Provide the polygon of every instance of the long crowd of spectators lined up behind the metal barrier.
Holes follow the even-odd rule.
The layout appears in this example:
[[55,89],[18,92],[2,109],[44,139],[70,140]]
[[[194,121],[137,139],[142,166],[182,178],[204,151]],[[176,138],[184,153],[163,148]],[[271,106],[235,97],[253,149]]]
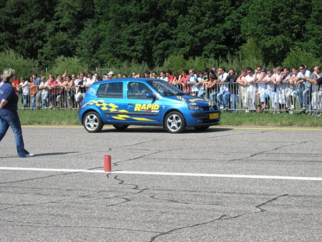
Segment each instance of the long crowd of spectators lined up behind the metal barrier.
[[[171,70],[155,71],[130,75],[113,71],[101,77],[98,73],[80,72],[67,74],[67,69],[55,77],[52,73],[46,78],[39,78],[33,73],[30,78],[16,79],[13,87],[22,95],[23,108],[36,109],[78,109],[85,96],[86,89],[101,80],[116,78],[158,78],[177,86],[183,92],[216,101],[222,111],[245,110],[245,112],[267,112],[273,114],[286,112],[292,114],[296,99],[302,113],[321,114],[322,87],[321,67],[314,66],[311,70],[306,65],[272,69],[257,66],[236,70],[222,67],[205,68],[203,71],[183,69],[181,73]],[[237,101],[239,108],[237,109]]]

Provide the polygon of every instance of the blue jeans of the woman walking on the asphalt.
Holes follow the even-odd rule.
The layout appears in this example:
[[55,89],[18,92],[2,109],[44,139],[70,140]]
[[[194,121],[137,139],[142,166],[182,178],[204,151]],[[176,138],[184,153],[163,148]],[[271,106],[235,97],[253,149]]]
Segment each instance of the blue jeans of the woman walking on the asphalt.
[[0,115],[0,141],[4,137],[9,126],[14,134],[18,155],[20,157],[24,157],[25,155],[29,154],[29,152],[24,148],[22,129],[18,114]]

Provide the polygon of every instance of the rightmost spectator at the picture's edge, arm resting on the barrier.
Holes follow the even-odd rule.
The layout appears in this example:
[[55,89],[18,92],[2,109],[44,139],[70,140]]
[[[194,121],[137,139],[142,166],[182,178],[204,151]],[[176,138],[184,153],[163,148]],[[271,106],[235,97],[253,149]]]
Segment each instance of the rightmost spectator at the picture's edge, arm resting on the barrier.
[[[322,86],[321,86],[321,77],[322,77],[322,72],[321,72],[321,67],[319,65],[316,65],[314,67],[314,71],[311,74],[310,77],[303,76],[302,80],[308,81],[311,84],[313,84],[313,109],[317,110],[321,115],[322,112]],[[320,80],[318,81],[318,79]],[[319,84],[320,83],[320,84]]]

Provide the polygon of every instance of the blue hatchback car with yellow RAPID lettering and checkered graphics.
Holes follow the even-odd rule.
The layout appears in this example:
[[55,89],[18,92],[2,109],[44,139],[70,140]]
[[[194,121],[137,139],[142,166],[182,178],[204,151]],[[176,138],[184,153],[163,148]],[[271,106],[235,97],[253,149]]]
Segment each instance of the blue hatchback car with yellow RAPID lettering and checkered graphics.
[[88,88],[78,113],[88,132],[104,124],[116,129],[129,125],[163,126],[170,133],[186,127],[207,129],[220,121],[218,105],[189,96],[160,79],[127,78],[96,82]]

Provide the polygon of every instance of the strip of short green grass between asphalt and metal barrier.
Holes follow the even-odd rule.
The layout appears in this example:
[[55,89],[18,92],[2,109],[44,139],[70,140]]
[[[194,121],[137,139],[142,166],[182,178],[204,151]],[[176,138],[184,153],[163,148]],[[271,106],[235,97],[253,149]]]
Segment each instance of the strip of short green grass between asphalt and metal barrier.
[[[77,111],[65,110],[18,110],[21,124],[70,124],[80,125]],[[219,125],[233,126],[290,126],[322,127],[322,117],[302,114],[257,114],[257,113],[224,113]]]

